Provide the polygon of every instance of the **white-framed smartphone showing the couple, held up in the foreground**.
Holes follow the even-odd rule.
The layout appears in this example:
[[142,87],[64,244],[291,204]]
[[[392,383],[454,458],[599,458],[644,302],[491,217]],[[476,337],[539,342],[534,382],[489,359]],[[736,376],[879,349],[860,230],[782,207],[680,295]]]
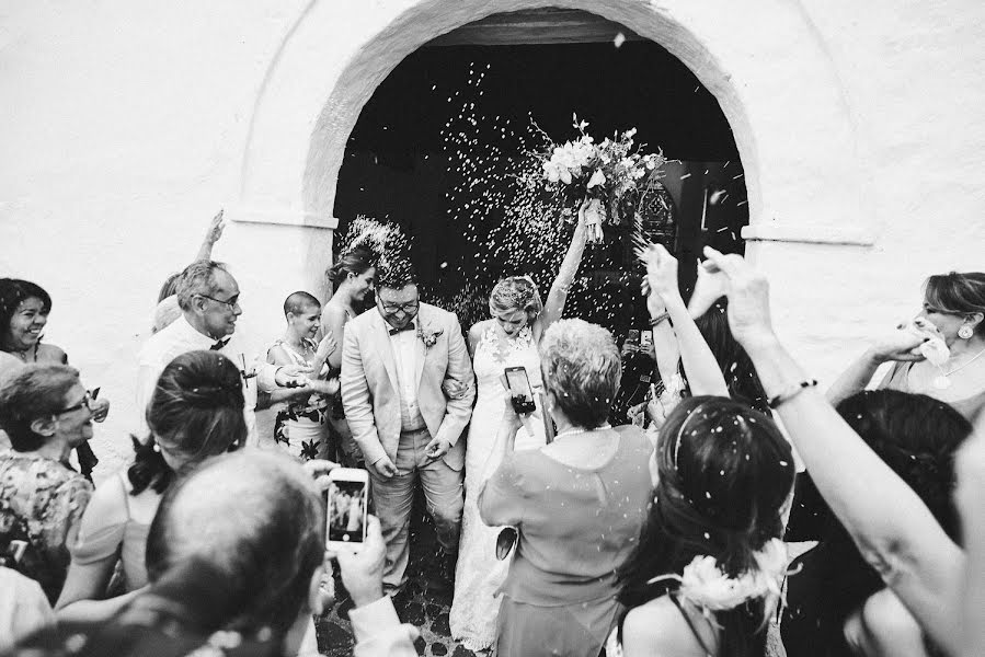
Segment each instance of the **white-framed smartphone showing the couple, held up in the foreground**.
[[369,473],[358,468],[336,468],[329,472],[329,480],[327,548],[357,552],[366,540]]

